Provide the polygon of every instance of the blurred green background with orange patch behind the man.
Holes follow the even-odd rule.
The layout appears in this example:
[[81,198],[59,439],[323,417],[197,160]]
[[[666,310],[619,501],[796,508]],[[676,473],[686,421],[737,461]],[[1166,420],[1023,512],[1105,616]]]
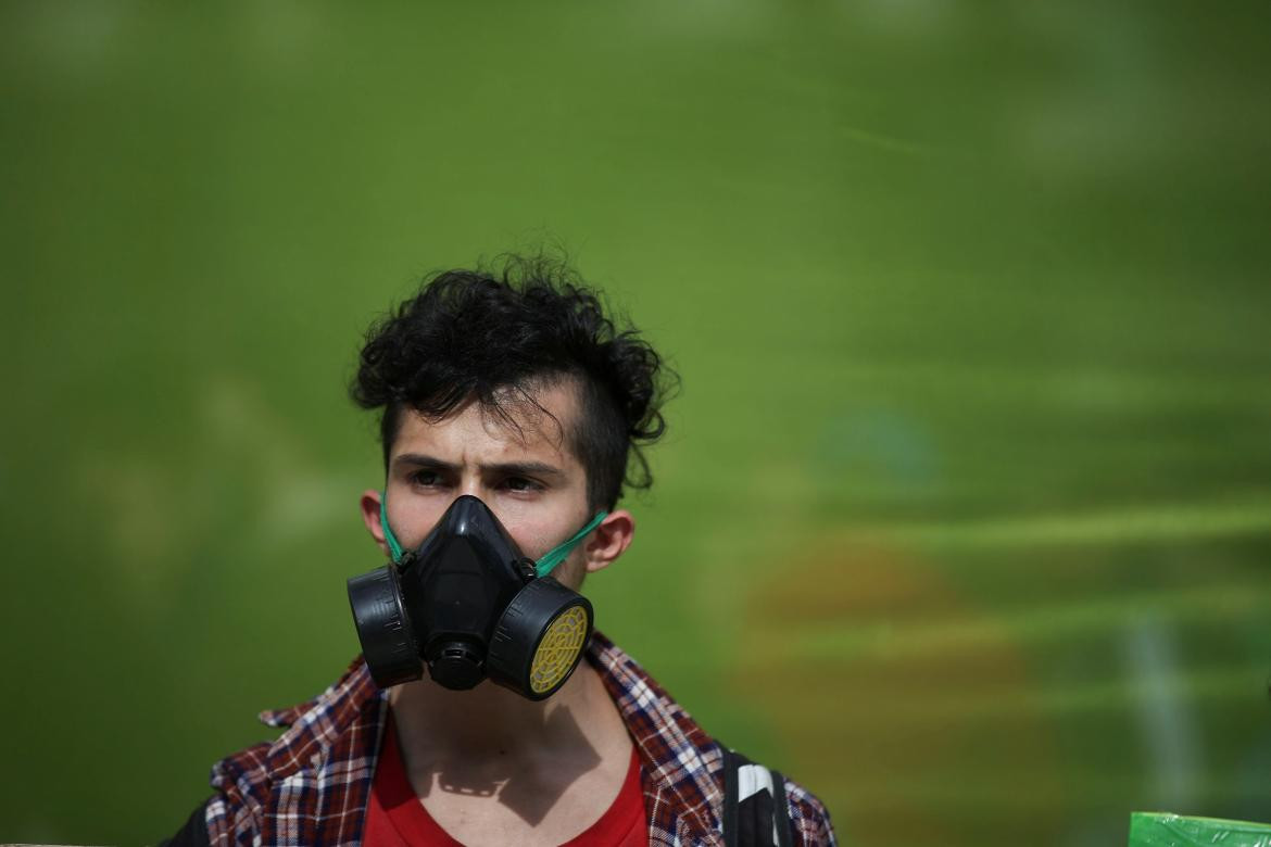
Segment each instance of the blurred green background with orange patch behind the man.
[[0,839],[357,651],[361,333],[559,243],[684,389],[601,629],[852,844],[1271,819],[1271,6],[0,6]]

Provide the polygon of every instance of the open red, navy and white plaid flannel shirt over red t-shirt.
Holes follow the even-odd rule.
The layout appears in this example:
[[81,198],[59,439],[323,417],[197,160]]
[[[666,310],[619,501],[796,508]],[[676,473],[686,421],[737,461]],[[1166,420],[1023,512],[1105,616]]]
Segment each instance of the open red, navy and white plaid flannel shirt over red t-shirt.
[[[587,659],[639,749],[649,844],[722,847],[723,753],[666,692],[600,632]],[[229,844],[358,844],[388,697],[358,657],[309,702],[261,712],[286,726],[212,766],[208,837]],[[835,844],[825,806],[785,781],[796,844]]]

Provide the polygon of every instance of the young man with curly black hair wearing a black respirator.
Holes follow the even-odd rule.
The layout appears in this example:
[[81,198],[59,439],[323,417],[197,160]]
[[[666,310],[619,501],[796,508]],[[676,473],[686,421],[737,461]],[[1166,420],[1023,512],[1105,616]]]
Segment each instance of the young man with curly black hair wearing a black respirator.
[[360,507],[393,561],[350,580],[365,658],[264,712],[287,729],[212,768],[175,842],[834,844],[576,593],[632,542],[666,380],[545,260],[442,273],[374,326],[352,396],[383,410],[385,484]]

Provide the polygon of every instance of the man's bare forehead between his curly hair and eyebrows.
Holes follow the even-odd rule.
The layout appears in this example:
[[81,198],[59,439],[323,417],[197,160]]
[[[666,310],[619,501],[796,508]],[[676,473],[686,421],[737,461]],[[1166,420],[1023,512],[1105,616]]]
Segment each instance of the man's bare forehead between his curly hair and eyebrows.
[[577,464],[568,447],[577,414],[577,391],[564,381],[534,389],[529,396],[505,391],[497,409],[469,399],[440,419],[405,409],[391,455],[428,452],[447,461],[535,458]]

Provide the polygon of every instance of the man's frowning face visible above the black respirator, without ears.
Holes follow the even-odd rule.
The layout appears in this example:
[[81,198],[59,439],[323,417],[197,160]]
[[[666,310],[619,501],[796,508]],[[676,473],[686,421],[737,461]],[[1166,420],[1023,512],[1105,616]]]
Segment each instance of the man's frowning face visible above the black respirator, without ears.
[[[404,411],[389,453],[388,521],[403,549],[423,541],[455,498],[479,498],[526,556],[539,559],[587,522],[586,470],[566,446],[577,414],[571,385],[508,404],[516,427],[469,401],[441,420]],[[576,549],[554,573],[582,582]]]

